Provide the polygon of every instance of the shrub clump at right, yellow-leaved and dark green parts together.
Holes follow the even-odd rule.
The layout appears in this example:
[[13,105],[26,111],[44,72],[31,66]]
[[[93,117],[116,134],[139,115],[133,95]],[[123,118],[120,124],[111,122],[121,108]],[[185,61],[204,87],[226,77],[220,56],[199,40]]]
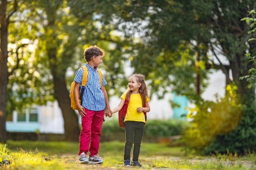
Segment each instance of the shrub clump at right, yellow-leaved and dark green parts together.
[[[184,135],[186,149],[202,155],[252,153],[256,150],[256,102],[251,94],[241,102],[236,86],[225,97],[202,101],[191,110],[191,127]],[[243,103],[243,104],[240,104]]]

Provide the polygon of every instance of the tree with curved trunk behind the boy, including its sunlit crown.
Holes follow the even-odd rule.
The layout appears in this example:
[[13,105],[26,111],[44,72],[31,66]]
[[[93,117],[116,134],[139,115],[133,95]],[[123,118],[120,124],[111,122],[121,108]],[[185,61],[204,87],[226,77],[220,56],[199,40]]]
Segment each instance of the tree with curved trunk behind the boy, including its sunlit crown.
[[[95,10],[85,11],[80,16],[76,16],[77,9],[81,7],[79,5],[80,1],[55,0],[49,1],[49,3],[45,3],[45,1],[36,1],[34,3],[36,7],[45,11],[43,15],[40,15],[43,23],[47,23],[43,24],[44,31],[39,38],[42,42],[40,46],[45,46],[45,56],[48,59],[47,64],[49,64],[46,67],[49,68],[53,76],[54,97],[58,101],[63,114],[65,139],[78,140],[78,119],[74,110],[70,107],[70,98],[68,97],[67,85],[70,86],[71,82],[66,82],[67,69],[72,66],[72,62],[76,62],[76,59],[79,61],[82,59],[83,62],[76,62],[73,65],[75,66],[74,70],[78,69],[82,63],[85,63],[83,58],[85,46],[90,46],[89,44],[107,46],[109,42],[119,42],[119,39],[111,36],[111,28],[100,30],[97,26],[97,20],[93,19],[99,10],[97,6],[94,7]],[[112,51],[114,50],[112,49]],[[43,51],[40,51],[40,53],[43,53]],[[115,53],[118,54],[118,50]],[[113,54],[117,57],[115,53]],[[116,68],[119,69],[119,66]]]

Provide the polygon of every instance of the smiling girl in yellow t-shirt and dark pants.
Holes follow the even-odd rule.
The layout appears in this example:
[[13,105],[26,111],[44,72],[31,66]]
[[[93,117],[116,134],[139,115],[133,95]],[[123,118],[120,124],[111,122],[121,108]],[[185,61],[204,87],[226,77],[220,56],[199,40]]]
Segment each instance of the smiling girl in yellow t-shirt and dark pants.
[[[144,112],[150,111],[148,88],[144,75],[133,74],[128,83],[128,88],[121,96],[121,102],[113,108],[112,113],[118,112],[128,101],[127,113],[124,118],[126,142],[124,146],[124,166],[139,166],[138,162],[141,139],[144,133],[146,118]],[[144,107],[143,107],[144,106]],[[132,163],[130,164],[130,152],[133,147]]]

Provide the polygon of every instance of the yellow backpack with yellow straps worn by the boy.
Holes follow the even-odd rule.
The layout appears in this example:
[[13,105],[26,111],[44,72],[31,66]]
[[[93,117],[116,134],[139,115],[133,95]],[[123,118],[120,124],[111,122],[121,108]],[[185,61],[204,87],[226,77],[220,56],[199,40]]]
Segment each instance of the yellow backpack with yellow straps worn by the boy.
[[[82,92],[81,92],[81,96],[80,96],[80,88],[78,91],[78,95],[79,95],[79,103],[81,104],[81,99],[83,99],[83,92],[84,92],[84,88],[85,88],[85,84],[87,83],[87,75],[88,75],[88,71],[87,71],[87,67],[86,66],[82,66],[83,68],[83,78],[82,78]],[[98,73],[99,73],[99,77],[100,77],[100,87],[102,86],[102,73],[99,69],[97,69]],[[78,108],[76,107],[76,103],[75,103],[75,98],[74,98],[74,86],[75,86],[75,82],[73,81],[71,84],[71,90],[70,90],[70,100],[71,100],[71,108],[73,108],[74,110],[78,110]]]

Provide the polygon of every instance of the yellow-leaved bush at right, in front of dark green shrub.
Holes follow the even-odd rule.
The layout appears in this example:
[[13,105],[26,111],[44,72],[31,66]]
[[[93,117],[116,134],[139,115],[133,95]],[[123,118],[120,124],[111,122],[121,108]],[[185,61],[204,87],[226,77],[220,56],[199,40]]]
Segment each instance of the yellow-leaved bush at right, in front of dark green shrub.
[[[216,102],[198,102],[188,115],[192,119],[192,125],[184,136],[187,149],[202,154],[218,135],[225,136],[235,130],[240,123],[241,115],[242,106],[237,99],[236,86],[227,86],[226,96],[217,98]],[[222,146],[223,141],[216,144],[216,147]],[[216,151],[219,148],[216,148]]]

